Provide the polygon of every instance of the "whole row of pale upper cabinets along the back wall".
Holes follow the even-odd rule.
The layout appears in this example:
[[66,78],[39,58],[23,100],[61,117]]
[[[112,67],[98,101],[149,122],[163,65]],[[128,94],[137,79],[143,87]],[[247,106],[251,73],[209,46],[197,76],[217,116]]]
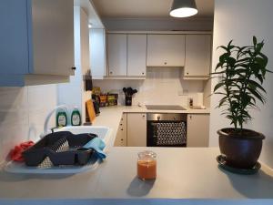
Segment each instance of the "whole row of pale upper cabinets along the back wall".
[[[96,35],[91,36],[96,40]],[[101,43],[98,43],[101,42]],[[112,32],[106,35],[106,62],[103,38],[97,39],[92,62],[93,77],[100,78],[145,78],[147,67],[181,67],[184,79],[207,79],[211,66],[211,35],[207,32],[145,33]],[[92,48],[91,48],[92,51]],[[96,54],[95,54],[96,53]],[[101,55],[100,55],[101,54]]]

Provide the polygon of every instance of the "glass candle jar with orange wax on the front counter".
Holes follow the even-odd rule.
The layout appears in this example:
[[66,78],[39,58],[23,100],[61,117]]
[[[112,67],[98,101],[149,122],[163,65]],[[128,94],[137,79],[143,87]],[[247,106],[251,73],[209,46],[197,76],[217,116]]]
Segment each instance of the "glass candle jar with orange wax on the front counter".
[[142,180],[157,178],[157,154],[153,151],[138,153],[137,177]]

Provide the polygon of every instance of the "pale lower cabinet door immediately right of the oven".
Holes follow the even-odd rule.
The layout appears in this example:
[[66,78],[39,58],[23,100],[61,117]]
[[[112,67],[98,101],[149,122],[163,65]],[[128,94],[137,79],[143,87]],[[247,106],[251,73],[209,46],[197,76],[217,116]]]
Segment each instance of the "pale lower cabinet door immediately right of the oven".
[[208,147],[209,139],[209,115],[188,114],[187,115],[187,147]]

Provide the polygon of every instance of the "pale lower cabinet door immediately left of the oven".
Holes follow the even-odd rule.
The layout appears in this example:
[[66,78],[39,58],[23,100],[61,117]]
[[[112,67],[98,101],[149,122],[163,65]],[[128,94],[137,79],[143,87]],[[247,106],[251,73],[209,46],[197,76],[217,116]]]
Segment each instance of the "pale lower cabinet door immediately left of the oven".
[[127,113],[127,146],[147,147],[146,113]]

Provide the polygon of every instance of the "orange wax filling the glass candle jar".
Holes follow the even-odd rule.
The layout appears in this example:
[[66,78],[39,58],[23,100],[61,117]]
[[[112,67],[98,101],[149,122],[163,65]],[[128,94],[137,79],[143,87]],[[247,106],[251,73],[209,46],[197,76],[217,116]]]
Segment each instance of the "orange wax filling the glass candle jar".
[[157,161],[156,160],[137,160],[137,176],[140,179],[157,178]]

